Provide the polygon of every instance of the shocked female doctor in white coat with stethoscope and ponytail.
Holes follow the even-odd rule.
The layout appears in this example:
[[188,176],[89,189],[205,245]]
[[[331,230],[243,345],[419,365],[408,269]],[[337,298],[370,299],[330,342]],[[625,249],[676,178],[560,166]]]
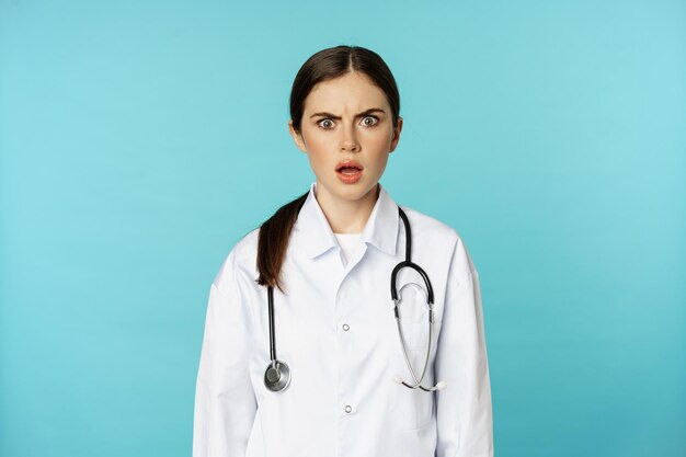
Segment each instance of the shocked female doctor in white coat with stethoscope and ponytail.
[[369,49],[298,71],[288,127],[317,180],[211,283],[194,457],[493,455],[476,266],[455,229],[379,183],[399,108]]

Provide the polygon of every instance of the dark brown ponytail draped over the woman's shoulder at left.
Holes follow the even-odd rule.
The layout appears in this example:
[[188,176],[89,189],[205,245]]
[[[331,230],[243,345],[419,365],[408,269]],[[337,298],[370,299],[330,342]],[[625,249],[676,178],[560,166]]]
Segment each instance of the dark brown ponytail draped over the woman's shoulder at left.
[[309,191],[285,204],[260,226],[258,239],[258,271],[260,276],[256,279],[259,285],[278,287],[284,293],[281,270],[288,249],[290,231],[308,194]]

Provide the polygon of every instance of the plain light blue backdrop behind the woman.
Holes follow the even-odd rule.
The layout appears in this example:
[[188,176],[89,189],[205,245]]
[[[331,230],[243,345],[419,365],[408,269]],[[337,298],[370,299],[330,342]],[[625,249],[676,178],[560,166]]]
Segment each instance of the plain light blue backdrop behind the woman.
[[209,284],[313,180],[288,94],[338,44],[479,269],[496,455],[686,455],[683,1],[0,1],[0,455],[191,454]]

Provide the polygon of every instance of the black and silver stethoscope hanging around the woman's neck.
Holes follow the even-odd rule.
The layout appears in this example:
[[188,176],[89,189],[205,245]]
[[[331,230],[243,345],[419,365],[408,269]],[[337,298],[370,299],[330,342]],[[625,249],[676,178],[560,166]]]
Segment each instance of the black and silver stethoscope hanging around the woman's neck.
[[[414,384],[405,382],[400,375],[396,375],[393,380],[398,384],[402,384],[410,389],[420,388],[426,392],[431,392],[434,390],[441,390],[446,387],[444,381],[436,384],[434,387],[426,388],[422,386],[422,380],[424,379],[424,375],[426,375],[426,367],[428,366],[428,358],[431,356],[431,342],[433,339],[434,332],[434,289],[431,286],[431,281],[428,276],[419,266],[416,263],[412,262],[412,233],[410,231],[410,222],[408,221],[408,216],[405,216],[404,212],[398,207],[398,212],[400,213],[400,218],[405,228],[405,260],[400,262],[393,269],[390,275],[390,295],[393,299],[393,312],[396,315],[396,323],[398,324],[398,334],[400,335],[400,345],[402,346],[402,353],[405,358],[405,363],[408,364],[408,368],[410,369],[410,374],[412,375],[412,379],[414,379]],[[422,376],[418,379],[412,363],[410,362],[410,357],[408,356],[408,351],[405,349],[405,339],[404,333],[402,332],[402,324],[400,322],[400,313],[398,311],[398,305],[401,302],[398,299],[398,289],[396,288],[396,277],[398,272],[404,267],[410,267],[416,271],[422,278],[424,279],[424,284],[426,285],[427,296],[426,296],[426,305],[428,307],[428,347],[426,350],[426,358],[424,359],[424,368],[422,369]],[[266,367],[264,372],[264,385],[267,389],[273,392],[278,392],[286,389],[290,385],[290,368],[285,362],[282,362],[276,358],[276,344],[274,342],[274,288],[272,286],[267,287],[267,299],[268,299],[268,313],[270,313],[270,365]]]

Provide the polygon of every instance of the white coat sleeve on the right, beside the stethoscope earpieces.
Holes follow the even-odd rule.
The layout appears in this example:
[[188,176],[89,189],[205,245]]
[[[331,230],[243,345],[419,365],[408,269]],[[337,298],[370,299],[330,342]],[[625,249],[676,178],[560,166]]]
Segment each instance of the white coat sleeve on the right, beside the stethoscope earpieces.
[[436,457],[492,457],[493,413],[481,288],[461,239],[450,260],[435,363]]

